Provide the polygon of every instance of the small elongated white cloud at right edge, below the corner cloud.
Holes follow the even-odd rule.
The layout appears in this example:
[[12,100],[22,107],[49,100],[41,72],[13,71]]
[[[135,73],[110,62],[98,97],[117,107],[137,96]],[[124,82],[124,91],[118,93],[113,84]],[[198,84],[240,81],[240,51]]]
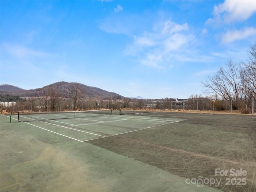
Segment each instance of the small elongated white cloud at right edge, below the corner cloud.
[[222,36],[221,41],[223,43],[230,43],[235,40],[245,39],[248,36],[252,36],[252,35],[256,35],[256,28],[246,27],[246,28],[243,28],[242,30],[231,30],[226,32],[226,34]]

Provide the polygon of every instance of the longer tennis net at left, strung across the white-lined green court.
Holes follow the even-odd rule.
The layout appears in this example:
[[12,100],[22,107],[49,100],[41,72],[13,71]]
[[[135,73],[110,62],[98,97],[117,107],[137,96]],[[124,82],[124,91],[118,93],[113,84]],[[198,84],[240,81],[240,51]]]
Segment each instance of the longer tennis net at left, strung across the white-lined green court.
[[68,118],[90,118],[102,115],[112,115],[112,109],[90,110],[90,111],[64,111],[64,112],[27,112],[19,111],[19,122],[44,121]]

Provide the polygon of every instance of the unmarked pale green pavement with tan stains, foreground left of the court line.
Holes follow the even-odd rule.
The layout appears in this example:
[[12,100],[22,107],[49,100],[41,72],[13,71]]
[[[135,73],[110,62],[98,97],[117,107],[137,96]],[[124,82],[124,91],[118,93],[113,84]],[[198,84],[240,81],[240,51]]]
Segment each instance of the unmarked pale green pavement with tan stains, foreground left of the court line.
[[0,115],[1,192],[183,192],[185,183],[155,166]]

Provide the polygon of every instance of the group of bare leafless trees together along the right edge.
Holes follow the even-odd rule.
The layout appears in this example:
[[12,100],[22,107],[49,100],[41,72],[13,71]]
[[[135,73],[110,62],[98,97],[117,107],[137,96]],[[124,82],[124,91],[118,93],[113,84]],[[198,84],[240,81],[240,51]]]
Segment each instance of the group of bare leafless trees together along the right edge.
[[203,82],[206,93],[230,102],[234,110],[241,108],[243,100],[256,98],[256,42],[248,53],[247,63],[228,60]]

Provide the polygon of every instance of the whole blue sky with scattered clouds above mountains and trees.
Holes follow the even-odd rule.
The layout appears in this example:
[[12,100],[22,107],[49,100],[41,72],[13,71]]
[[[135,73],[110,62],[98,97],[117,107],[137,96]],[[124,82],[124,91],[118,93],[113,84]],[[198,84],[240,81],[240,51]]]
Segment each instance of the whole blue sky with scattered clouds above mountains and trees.
[[1,79],[188,98],[256,42],[256,1],[0,1]]

